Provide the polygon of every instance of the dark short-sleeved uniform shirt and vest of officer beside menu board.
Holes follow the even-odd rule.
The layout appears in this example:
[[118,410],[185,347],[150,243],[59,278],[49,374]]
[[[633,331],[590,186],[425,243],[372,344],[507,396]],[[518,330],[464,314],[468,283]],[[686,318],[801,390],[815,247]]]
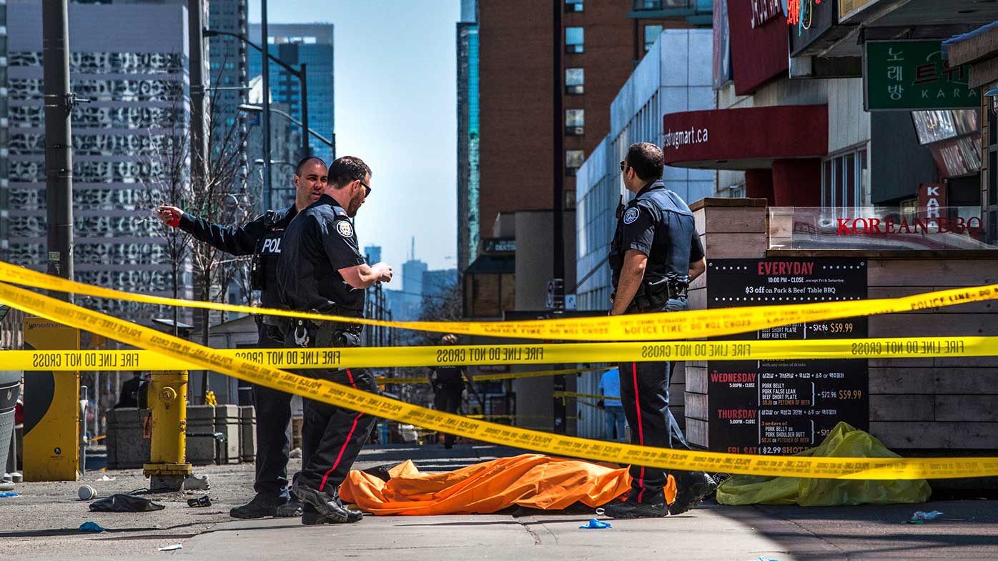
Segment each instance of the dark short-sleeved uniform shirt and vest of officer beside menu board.
[[624,255],[629,250],[648,256],[645,283],[666,277],[686,279],[690,264],[704,259],[704,246],[697,235],[693,213],[661,181],[638,192],[638,197],[627,205],[617,221],[610,254],[614,287],[620,281]]

